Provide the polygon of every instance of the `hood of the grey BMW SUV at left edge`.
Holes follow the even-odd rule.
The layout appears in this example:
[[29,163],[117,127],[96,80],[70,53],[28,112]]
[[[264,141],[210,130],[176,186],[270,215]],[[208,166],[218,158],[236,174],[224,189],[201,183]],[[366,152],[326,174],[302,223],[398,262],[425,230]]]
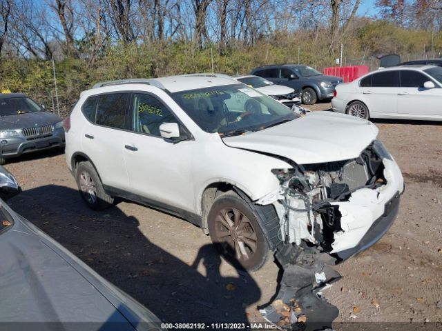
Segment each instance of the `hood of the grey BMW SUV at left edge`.
[[25,112],[24,114],[0,117],[0,130],[46,126],[59,121],[61,119],[50,112]]

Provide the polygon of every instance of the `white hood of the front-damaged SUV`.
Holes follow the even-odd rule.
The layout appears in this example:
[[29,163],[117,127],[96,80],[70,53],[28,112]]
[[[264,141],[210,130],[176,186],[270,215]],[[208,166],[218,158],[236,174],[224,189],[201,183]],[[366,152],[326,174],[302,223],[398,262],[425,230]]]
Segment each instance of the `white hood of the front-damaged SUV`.
[[222,140],[227,146],[280,155],[298,164],[354,159],[378,134],[365,119],[310,112],[279,126]]

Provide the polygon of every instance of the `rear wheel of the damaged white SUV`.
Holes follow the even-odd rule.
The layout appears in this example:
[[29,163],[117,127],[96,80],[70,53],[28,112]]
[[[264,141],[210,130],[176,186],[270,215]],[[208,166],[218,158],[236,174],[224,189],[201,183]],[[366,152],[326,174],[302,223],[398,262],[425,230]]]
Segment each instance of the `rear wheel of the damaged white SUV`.
[[104,192],[103,184],[94,166],[84,161],[79,163],[75,171],[75,181],[81,198],[93,210],[104,210],[113,205],[113,197]]

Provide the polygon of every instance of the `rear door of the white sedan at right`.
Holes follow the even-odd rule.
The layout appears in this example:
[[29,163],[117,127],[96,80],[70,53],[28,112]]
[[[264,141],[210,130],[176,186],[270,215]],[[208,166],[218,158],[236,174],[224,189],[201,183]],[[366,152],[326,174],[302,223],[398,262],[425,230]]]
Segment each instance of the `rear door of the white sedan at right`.
[[371,117],[396,117],[398,70],[381,70],[367,76],[361,80],[360,88]]

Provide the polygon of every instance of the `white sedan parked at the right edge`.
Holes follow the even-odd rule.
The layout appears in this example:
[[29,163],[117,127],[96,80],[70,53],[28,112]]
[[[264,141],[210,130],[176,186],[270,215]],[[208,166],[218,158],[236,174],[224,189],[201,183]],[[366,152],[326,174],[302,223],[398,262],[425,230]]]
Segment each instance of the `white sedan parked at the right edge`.
[[336,86],[335,112],[363,119],[442,120],[442,68],[397,66]]

